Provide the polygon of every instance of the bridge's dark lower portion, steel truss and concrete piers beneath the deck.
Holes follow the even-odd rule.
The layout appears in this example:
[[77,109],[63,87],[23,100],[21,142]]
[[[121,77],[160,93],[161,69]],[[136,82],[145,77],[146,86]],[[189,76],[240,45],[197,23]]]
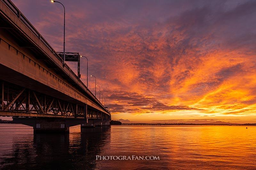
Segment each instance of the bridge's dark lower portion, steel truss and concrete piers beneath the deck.
[[32,126],[35,132],[68,132],[70,126],[78,124],[81,128],[109,125],[108,115],[91,106],[3,80],[0,81],[0,116],[12,116],[14,123]]

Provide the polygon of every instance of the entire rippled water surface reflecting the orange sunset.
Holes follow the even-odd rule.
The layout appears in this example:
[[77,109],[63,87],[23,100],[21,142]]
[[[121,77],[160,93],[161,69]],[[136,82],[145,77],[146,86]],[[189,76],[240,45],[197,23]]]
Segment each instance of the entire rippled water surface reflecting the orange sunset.
[[[112,126],[33,134],[0,124],[0,169],[256,169],[256,126]],[[160,160],[96,160],[159,156]]]

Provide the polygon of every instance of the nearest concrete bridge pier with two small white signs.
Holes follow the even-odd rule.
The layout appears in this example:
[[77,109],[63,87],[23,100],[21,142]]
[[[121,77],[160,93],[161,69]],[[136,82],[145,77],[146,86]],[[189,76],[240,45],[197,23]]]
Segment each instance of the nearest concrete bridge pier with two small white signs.
[[69,133],[69,127],[84,123],[81,119],[13,117],[16,124],[32,126],[34,133]]

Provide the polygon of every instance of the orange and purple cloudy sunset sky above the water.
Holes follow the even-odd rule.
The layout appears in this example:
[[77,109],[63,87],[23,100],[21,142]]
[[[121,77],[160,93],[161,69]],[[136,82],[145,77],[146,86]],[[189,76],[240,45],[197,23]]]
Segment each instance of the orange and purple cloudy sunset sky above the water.
[[[88,57],[113,120],[256,122],[256,1],[60,1],[66,51]],[[62,51],[60,4],[12,2]]]

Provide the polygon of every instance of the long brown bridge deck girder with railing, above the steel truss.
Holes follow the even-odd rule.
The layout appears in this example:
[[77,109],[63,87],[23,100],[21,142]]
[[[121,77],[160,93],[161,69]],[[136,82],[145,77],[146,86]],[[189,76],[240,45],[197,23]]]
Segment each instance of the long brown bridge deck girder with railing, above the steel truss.
[[[6,105],[10,102],[8,97],[5,97],[8,89],[5,89],[4,82],[7,81],[24,87],[26,91],[32,90],[45,96],[55,97],[56,100],[62,100],[64,103],[78,104],[81,108],[86,105],[89,109],[110,117],[110,112],[98,99],[95,99],[92,92],[82,81],[79,81],[78,76],[68,65],[63,65],[61,57],[10,0],[0,0],[0,23],[0,80],[3,82],[0,93],[2,97],[0,115],[33,116],[33,113],[27,112],[28,110],[25,112],[19,110],[19,113],[10,110],[11,105],[6,110]],[[15,107],[19,105],[17,101],[13,103]],[[25,101],[20,103],[26,105]],[[33,103],[27,102],[27,106],[30,105]],[[40,108],[40,104],[35,106]],[[60,107],[60,113],[61,110],[64,112],[65,109]],[[46,112],[43,110],[41,113],[35,113],[34,116],[37,114],[42,116]],[[62,113],[55,116],[68,115]],[[73,116],[79,117],[75,113]]]

